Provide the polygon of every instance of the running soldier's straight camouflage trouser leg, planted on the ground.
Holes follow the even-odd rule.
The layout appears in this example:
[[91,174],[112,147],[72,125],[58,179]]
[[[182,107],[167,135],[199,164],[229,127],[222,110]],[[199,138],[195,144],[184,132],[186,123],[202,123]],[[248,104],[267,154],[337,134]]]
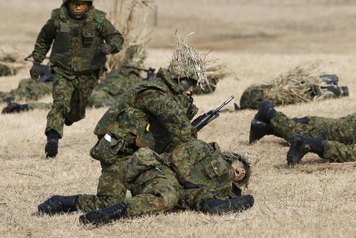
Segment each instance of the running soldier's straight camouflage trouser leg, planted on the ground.
[[55,130],[60,138],[63,136],[63,126],[65,117],[70,111],[70,101],[74,86],[72,81],[69,81],[60,74],[55,74],[53,77],[53,105],[51,111],[47,115],[46,134],[50,130]]

